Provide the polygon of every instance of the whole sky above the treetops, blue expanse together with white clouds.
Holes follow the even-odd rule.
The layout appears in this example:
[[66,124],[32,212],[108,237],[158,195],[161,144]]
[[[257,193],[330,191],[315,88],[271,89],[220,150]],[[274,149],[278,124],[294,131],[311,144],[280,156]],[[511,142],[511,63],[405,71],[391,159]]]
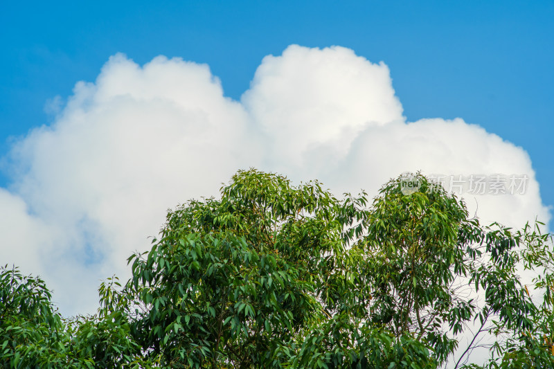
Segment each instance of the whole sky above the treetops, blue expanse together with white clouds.
[[[125,276],[125,258],[143,249],[136,240],[155,233],[166,208],[193,196],[215,195],[213,190],[244,165],[279,170],[294,179],[321,177],[339,189],[353,183],[371,190],[402,168],[452,174],[534,170],[532,193],[521,197],[523,202],[483,198],[480,209],[504,217],[508,224],[519,224],[518,216],[544,219],[545,209],[554,205],[553,19],[554,1],[1,1],[0,264],[13,262],[26,272],[42,273],[57,291],[62,312],[89,312],[94,307],[91,298],[82,296],[93,294],[98,279],[114,271]],[[303,47],[287,48],[292,44]],[[334,45],[343,48],[325,49]],[[127,57],[108,62],[117,53]],[[203,67],[152,61],[158,55],[207,64],[221,81],[224,96],[232,100],[215,96],[217,81]],[[277,58],[264,59],[267,55]],[[141,69],[147,63],[148,72],[147,67]],[[308,82],[298,86],[312,89],[296,88],[303,78]],[[172,80],[195,89],[186,95],[168,87]],[[78,81],[96,84],[80,84],[74,90]],[[175,97],[181,96],[179,91],[188,98]],[[313,102],[303,100],[310,93],[299,91],[327,95]],[[142,95],[136,98],[135,92]],[[208,97],[202,97],[204,92]],[[116,105],[113,96],[130,100],[120,99],[123,105]],[[132,105],[134,98],[138,105]],[[197,106],[208,108],[187,105],[175,114],[168,112],[175,104],[193,104],[195,98]],[[160,100],[171,104],[161,109],[156,105]],[[337,109],[325,110],[338,100]],[[68,101],[73,105],[66,105]],[[303,111],[303,104],[313,105]],[[152,130],[157,116],[160,121],[173,122],[176,116],[181,117],[176,122],[188,121],[183,111],[195,109],[206,116],[220,112],[219,120],[205,119],[216,128],[217,122],[233,116],[225,127],[238,122],[244,130],[221,137],[218,132],[226,132],[225,127],[198,136],[195,129],[200,128],[181,132],[177,123]],[[301,114],[289,114],[295,109]],[[325,120],[337,111],[335,120]],[[148,120],[150,116],[154,118]],[[448,123],[458,117],[463,121]],[[327,136],[307,143],[289,140],[295,125],[305,120],[310,121],[302,126],[303,136],[321,129],[319,118],[326,122]],[[334,130],[342,120],[343,130]],[[361,123],[349,125],[350,120]],[[377,128],[363,131],[366,120],[377,122]],[[389,120],[416,123],[386,125]],[[114,123],[102,126],[105,122]],[[287,126],[289,122],[295,125]],[[50,128],[37,130],[43,125]],[[379,128],[385,126],[398,131]],[[80,127],[86,127],[85,133]],[[113,127],[118,130],[110,131]],[[347,137],[349,129],[355,141]],[[362,131],[366,133],[359,134]],[[156,136],[160,132],[168,135]],[[193,141],[173,143],[179,132]],[[243,132],[237,142],[251,140],[227,147],[225,140],[233,139],[233,132]],[[391,150],[387,138],[377,139],[381,134],[406,138],[398,142],[408,152],[394,159],[393,151],[386,152]],[[129,136],[144,145],[133,146],[126,141]],[[94,141],[96,137],[101,139]],[[265,159],[249,161],[257,156],[247,154],[247,159],[228,161],[217,172],[220,167],[206,161],[202,150],[179,152],[194,145],[197,137],[204,139],[199,138],[204,147],[221,150],[217,155],[222,161],[239,157],[241,153],[229,153],[252,142],[258,146],[251,152]],[[152,147],[175,150],[166,156],[154,156],[160,150],[141,156],[150,138]],[[321,142],[328,143],[320,148],[323,154],[313,151],[302,163],[294,161],[296,154],[302,156]],[[352,149],[343,152],[342,143]],[[265,146],[271,149],[264,151]],[[368,151],[371,147],[376,147],[373,152]],[[427,150],[421,156],[427,158],[425,163],[401,162],[420,149]],[[380,156],[379,150],[385,154]],[[91,159],[104,154],[98,161]],[[336,157],[341,161],[334,163]],[[377,165],[382,161],[393,168],[392,174]],[[106,172],[112,163],[123,164]],[[359,174],[365,168],[374,176]],[[178,177],[179,171],[186,175]],[[168,189],[168,183],[174,187]],[[139,204],[143,200],[146,203]],[[155,217],[148,217],[151,213]],[[68,279],[67,273],[74,278]]]

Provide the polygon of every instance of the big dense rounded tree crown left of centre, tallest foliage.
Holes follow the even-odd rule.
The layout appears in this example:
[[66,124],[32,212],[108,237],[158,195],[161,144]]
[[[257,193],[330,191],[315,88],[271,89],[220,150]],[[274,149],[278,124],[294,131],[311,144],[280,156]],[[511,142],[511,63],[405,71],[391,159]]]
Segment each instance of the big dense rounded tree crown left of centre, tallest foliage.
[[173,368],[280,368],[323,319],[317,289],[343,252],[340,203],[317,182],[254,171],[222,194],[170,212],[148,257],[129,258],[129,293],[148,307],[134,332]]

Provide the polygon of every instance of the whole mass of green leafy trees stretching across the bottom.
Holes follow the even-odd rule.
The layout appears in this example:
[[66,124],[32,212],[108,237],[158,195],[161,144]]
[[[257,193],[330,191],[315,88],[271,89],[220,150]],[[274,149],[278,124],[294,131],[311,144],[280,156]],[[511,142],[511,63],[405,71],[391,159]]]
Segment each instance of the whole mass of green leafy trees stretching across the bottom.
[[[553,366],[551,236],[481,226],[463,201],[413,180],[406,192],[391,179],[369,204],[363,192],[339,199],[318,181],[240,171],[220,199],[169,211],[152,249],[128,259],[132,278],[102,283],[96,316],[58,316],[35,341],[46,350],[40,337],[60,332],[60,357],[102,368],[478,368],[463,363],[489,334],[479,368]],[[542,303],[519,265],[545,269]],[[0,362],[17,367],[23,346],[7,347]]]

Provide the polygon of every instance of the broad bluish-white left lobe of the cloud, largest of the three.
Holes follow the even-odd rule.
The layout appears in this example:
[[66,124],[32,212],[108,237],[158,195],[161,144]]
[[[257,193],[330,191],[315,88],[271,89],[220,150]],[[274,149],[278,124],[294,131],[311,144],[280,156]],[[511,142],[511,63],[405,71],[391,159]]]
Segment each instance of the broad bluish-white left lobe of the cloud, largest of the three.
[[[116,55],[96,83],[75,86],[51,127],[15,145],[12,196],[62,230],[19,252],[51,255],[40,271],[64,312],[96,308],[98,281],[127,276],[126,258],[148,246],[167,208],[215,195],[237,168],[258,165],[247,123],[207,66],[157,57],[141,68]],[[12,262],[7,251],[1,259]]]

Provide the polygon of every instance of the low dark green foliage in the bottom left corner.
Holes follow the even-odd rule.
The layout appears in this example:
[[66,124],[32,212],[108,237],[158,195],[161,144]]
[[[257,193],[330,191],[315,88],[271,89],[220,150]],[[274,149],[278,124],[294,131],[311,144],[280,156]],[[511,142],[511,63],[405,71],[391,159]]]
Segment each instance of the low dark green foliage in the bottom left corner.
[[44,281],[15,268],[0,268],[0,345],[2,368],[150,366],[121,312],[64,319]]

